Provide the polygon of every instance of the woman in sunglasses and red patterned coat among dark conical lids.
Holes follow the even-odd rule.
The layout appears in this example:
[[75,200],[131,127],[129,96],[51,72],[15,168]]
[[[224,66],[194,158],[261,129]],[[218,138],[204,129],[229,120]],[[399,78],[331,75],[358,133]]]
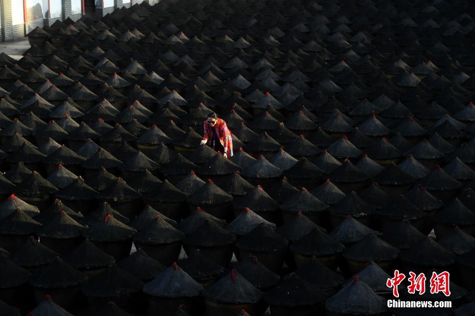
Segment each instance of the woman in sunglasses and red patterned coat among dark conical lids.
[[210,141],[210,147],[216,151],[221,151],[226,158],[233,155],[231,132],[226,126],[226,122],[218,118],[216,113],[208,114],[204,121],[204,136],[201,145]]

